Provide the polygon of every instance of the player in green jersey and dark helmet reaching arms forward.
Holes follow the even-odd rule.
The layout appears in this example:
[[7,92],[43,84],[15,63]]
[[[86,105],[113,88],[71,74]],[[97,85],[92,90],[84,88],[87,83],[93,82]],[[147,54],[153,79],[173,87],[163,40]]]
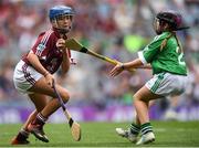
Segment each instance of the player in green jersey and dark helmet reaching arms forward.
[[[128,130],[116,128],[116,133],[126,137],[136,145],[148,144],[155,140],[153,127],[149,121],[149,101],[163,98],[168,95],[179,95],[185,91],[187,66],[184,51],[176,35],[176,31],[188,29],[184,27],[182,17],[175,11],[159,12],[154,20],[157,36],[138,52],[138,59],[117,64],[109,73],[116,76],[124,70],[151,67],[153,78],[149,80],[134,95],[136,120]],[[138,134],[142,134],[137,140]]]

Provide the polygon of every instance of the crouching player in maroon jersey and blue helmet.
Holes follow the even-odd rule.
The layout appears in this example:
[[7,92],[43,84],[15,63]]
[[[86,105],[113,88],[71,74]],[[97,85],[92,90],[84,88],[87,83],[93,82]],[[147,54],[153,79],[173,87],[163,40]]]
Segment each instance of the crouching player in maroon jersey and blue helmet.
[[[43,126],[59,107],[52,85],[53,74],[62,68],[66,74],[70,68],[70,51],[65,47],[66,34],[72,28],[74,10],[65,6],[55,6],[50,9],[49,18],[52,29],[42,32],[30,52],[17,64],[13,75],[15,88],[28,94],[35,106],[18,135],[12,139],[12,145],[29,144],[29,135],[33,134],[38,139],[49,142],[43,131]],[[69,92],[55,84],[63,102],[70,98]],[[48,102],[48,97],[52,97]]]

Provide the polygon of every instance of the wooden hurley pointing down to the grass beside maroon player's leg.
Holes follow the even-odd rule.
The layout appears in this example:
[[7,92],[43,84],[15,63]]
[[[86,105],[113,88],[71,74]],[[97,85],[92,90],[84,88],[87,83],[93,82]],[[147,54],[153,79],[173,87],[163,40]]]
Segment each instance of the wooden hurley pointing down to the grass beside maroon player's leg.
[[63,99],[60,96],[59,92],[56,91],[54,82],[53,82],[53,89],[54,89],[54,93],[55,93],[60,104],[61,104],[61,107],[62,107],[62,109],[64,112],[64,115],[66,116],[66,118],[69,120],[69,125],[70,125],[70,128],[71,128],[71,134],[73,136],[73,139],[76,140],[76,141],[80,141],[81,140],[81,127],[80,127],[80,125],[76,121],[73,120],[73,118],[70,115],[70,113],[65,108]]

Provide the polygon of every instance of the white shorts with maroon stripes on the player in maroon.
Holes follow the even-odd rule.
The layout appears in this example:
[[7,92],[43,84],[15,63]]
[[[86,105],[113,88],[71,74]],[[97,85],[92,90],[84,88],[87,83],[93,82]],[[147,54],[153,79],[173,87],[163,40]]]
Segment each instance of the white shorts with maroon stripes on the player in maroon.
[[42,76],[42,74],[21,60],[17,64],[13,73],[13,83],[19,92],[23,94],[30,94],[31,92],[28,89],[31,88]]

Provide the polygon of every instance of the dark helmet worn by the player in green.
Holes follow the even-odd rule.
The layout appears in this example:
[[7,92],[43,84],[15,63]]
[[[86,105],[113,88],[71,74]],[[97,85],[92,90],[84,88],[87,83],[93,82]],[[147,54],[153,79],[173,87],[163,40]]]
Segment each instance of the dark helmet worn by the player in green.
[[172,31],[189,29],[182,20],[179,12],[176,11],[164,11],[156,15],[160,21],[165,21],[171,25]]

